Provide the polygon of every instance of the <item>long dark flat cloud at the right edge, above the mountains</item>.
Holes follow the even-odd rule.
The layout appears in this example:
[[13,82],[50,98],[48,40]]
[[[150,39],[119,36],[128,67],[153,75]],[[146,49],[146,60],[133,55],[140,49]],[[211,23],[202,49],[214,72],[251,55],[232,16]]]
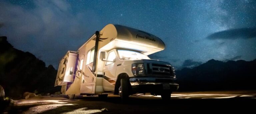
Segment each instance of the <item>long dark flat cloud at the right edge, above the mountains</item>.
[[210,40],[216,39],[249,39],[256,38],[256,28],[230,29],[216,32],[207,37]]

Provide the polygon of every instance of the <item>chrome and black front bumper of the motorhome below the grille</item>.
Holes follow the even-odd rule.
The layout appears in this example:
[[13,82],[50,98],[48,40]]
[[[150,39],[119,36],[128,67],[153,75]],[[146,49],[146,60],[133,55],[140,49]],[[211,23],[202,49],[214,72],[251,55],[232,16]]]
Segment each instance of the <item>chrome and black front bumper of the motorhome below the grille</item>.
[[[168,77],[131,77],[130,83],[134,93],[161,93],[162,91],[178,90],[175,78]],[[169,85],[169,87],[168,87]]]

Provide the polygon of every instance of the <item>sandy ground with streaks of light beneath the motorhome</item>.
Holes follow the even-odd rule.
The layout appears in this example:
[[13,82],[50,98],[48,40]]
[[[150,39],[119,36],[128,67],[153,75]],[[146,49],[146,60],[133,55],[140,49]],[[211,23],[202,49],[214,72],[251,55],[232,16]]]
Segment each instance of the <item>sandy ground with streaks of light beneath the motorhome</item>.
[[9,113],[245,113],[255,111],[255,103],[256,90],[173,92],[170,102],[163,101],[161,96],[146,94],[130,96],[129,102],[125,104],[118,95],[109,95],[106,99],[87,96],[76,100],[42,96],[15,100],[15,105],[11,107]]

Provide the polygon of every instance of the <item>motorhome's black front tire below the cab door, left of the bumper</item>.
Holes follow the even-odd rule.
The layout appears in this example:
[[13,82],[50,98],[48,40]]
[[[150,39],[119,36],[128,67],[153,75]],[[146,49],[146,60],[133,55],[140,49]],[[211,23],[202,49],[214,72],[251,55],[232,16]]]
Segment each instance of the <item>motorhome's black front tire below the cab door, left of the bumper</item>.
[[130,95],[130,86],[129,81],[126,78],[121,79],[121,86],[119,87],[119,95],[123,102],[126,102],[129,99]]

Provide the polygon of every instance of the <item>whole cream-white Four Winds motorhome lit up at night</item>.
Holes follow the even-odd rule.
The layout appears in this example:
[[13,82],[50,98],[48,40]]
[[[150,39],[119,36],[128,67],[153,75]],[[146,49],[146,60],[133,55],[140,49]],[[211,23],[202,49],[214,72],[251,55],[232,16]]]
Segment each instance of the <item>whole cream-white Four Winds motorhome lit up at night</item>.
[[130,95],[151,93],[169,100],[179,88],[174,67],[148,57],[164,49],[164,42],[152,34],[108,24],[60,60],[55,86],[62,86],[71,99],[115,94],[125,101]]

